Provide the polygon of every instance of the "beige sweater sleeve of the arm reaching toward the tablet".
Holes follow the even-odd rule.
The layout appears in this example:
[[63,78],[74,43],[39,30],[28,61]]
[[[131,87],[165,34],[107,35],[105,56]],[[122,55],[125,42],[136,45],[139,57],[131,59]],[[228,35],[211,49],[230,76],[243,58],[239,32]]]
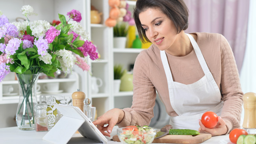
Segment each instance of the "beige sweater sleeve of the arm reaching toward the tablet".
[[150,81],[149,74],[147,53],[142,51],[137,56],[134,64],[132,107],[123,109],[124,118],[117,126],[144,126],[150,124],[151,118],[154,117],[156,90]]

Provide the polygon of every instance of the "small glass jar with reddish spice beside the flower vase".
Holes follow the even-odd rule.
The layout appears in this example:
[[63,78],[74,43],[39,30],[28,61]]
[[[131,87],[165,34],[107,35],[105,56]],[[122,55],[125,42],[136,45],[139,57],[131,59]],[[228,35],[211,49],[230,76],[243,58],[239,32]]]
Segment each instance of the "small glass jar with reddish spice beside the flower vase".
[[35,105],[35,131],[48,131],[47,105],[40,103]]

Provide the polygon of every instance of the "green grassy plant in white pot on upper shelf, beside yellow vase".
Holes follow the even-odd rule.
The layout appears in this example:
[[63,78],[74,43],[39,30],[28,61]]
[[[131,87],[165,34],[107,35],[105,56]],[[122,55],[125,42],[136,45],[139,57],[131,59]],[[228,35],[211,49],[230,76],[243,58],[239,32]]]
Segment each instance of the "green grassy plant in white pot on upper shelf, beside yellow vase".
[[113,28],[114,31],[114,48],[125,48],[126,35],[128,32],[128,25],[125,22],[119,22]]

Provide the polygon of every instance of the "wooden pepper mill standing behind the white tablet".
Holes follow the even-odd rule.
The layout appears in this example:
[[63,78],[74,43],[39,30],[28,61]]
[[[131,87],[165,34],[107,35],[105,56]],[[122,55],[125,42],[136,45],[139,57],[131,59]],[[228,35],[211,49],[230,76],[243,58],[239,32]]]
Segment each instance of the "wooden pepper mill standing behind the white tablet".
[[80,92],[80,89],[77,89],[77,92],[73,92],[72,94],[73,106],[79,107],[79,109],[81,109],[83,113],[84,113],[84,103],[83,103],[84,99],[85,99],[85,93]]

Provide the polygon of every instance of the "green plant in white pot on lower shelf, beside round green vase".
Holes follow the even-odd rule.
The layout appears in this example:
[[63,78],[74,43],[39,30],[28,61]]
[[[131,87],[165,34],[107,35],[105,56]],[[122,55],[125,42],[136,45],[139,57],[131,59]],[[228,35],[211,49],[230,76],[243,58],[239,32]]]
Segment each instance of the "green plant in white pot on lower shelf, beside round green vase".
[[126,70],[123,70],[122,65],[114,66],[114,93],[118,93],[120,90],[121,77],[126,73]]

